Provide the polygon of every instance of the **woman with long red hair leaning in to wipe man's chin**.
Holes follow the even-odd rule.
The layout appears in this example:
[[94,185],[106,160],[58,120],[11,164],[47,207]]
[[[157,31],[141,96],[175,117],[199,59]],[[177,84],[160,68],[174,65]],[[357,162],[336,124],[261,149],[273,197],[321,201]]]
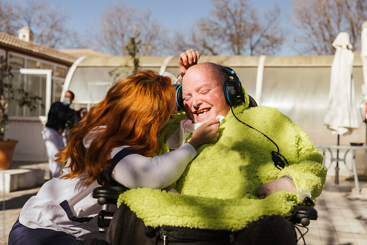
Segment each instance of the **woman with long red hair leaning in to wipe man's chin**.
[[175,90],[166,76],[148,70],[117,81],[70,130],[68,146],[58,154],[59,163],[67,161],[62,176],[47,181],[25,203],[9,244],[73,245],[103,239],[94,188],[116,182],[128,188],[169,187],[195,158],[196,148],[215,143],[219,127],[212,119],[195,130],[189,143],[152,157],[175,108]]

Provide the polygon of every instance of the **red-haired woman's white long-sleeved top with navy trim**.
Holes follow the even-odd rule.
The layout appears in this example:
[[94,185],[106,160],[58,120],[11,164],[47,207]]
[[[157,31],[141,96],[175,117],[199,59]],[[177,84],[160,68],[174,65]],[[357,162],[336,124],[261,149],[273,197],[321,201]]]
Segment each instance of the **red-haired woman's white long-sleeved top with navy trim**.
[[[84,139],[86,148],[99,130],[103,128],[94,130]],[[109,158],[112,159],[126,147],[112,149]],[[190,144],[184,144],[175,151],[154,158],[131,154],[117,163],[111,175],[129,188],[164,188],[181,176],[196,155],[196,150]],[[64,169],[63,175],[68,172],[69,169]],[[37,195],[25,203],[19,222],[29,228],[63,231],[79,239],[103,239],[105,234],[99,233],[97,226],[97,215],[101,206],[97,199],[92,198],[93,189],[100,185],[93,181],[90,185],[83,186],[87,177],[85,172],[73,179],[53,178],[47,181]],[[84,222],[86,219],[89,221]]]

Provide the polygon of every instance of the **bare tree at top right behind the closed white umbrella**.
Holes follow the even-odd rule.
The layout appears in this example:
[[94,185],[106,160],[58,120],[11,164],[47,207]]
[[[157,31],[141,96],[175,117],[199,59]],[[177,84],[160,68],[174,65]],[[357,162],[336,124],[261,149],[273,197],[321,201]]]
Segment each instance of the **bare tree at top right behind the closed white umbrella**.
[[[365,0],[293,0],[291,17],[298,28],[299,53],[333,54],[331,46],[339,32],[350,35],[354,50],[360,47],[361,25],[367,18]],[[300,46],[300,47],[299,47]]]

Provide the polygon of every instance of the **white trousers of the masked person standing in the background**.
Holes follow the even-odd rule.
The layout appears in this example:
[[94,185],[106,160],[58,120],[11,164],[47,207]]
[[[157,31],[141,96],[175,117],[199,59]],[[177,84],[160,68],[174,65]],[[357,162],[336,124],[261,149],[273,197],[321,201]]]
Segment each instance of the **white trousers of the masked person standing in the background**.
[[64,147],[63,137],[57,133],[56,130],[50,127],[44,127],[42,130],[42,137],[45,141],[48,166],[50,167],[50,179],[58,177],[60,175],[61,165],[55,162],[55,154],[59,153],[61,148]]

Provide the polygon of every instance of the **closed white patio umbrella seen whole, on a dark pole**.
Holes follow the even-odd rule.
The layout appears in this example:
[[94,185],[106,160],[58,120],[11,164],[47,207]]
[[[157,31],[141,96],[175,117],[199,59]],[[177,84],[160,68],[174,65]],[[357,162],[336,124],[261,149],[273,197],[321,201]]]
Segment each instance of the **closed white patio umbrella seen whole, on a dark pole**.
[[[333,42],[336,48],[331,65],[330,92],[324,124],[332,134],[339,136],[352,133],[360,124],[355,102],[354,82],[352,77],[354,54],[350,44],[349,33],[340,32]],[[337,158],[339,152],[337,150]],[[339,166],[335,168],[335,184],[339,184]]]

